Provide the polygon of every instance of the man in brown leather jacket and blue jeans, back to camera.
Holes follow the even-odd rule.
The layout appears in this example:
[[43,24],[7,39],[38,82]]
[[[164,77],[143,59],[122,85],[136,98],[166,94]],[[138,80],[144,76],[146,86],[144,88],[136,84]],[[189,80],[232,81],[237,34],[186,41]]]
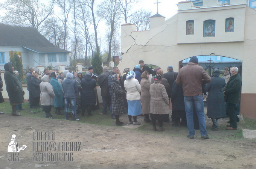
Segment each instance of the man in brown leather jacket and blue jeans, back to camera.
[[191,57],[189,63],[180,69],[176,83],[181,84],[183,88],[185,110],[187,115],[187,128],[189,131],[187,137],[194,139],[195,135],[193,122],[194,104],[197,111],[201,138],[209,139],[204,118],[202,84],[209,83],[211,81],[211,77],[204,71],[201,66],[198,66],[197,63],[198,58],[195,56]]

